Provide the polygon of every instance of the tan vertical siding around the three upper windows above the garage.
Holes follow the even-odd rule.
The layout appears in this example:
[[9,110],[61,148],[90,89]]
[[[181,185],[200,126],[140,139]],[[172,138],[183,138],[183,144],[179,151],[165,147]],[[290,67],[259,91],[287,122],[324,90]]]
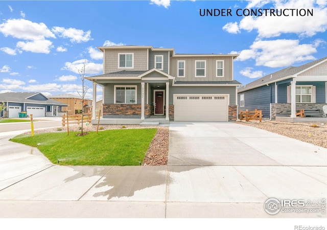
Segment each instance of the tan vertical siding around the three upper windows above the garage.
[[[206,61],[205,77],[195,77],[195,61]],[[216,77],[216,60],[224,61],[224,77]],[[185,61],[185,77],[177,77],[178,61]],[[170,75],[177,81],[232,81],[232,57],[172,57]]]

